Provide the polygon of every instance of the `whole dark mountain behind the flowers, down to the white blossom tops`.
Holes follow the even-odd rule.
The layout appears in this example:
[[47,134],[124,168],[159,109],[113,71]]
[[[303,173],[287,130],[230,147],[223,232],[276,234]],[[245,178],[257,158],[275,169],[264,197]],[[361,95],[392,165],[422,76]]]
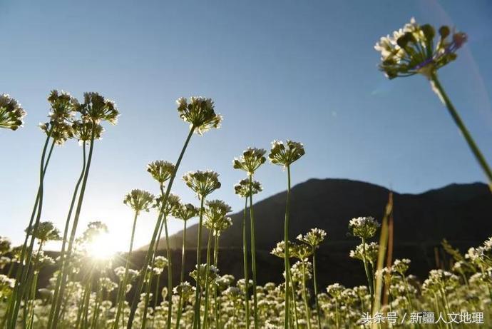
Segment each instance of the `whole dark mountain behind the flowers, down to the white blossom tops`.
[[[351,284],[363,280],[360,264],[348,257],[357,240],[347,236],[347,224],[358,216],[374,216],[380,221],[388,194],[381,186],[347,179],[310,179],[292,188],[290,238],[315,227],[328,233],[326,243],[319,250],[323,281],[341,280]],[[277,241],[283,240],[284,212],[285,192],[255,204],[261,282],[281,279],[282,261],[268,253]],[[233,226],[220,237],[219,268],[222,273],[240,276],[242,213],[234,213],[231,218]],[[188,228],[188,248],[196,248],[197,231],[196,225]],[[206,241],[204,231],[203,241]],[[452,184],[421,194],[394,193],[395,256],[411,258],[412,273],[425,275],[434,268],[434,247],[443,238],[465,250],[491,235],[492,195],[483,183]],[[170,237],[173,248],[180,248],[181,241],[182,232]],[[165,246],[165,241],[160,241],[160,246]],[[188,256],[190,268],[194,258],[193,253]],[[347,275],[352,271],[361,272],[361,278],[357,273]]]

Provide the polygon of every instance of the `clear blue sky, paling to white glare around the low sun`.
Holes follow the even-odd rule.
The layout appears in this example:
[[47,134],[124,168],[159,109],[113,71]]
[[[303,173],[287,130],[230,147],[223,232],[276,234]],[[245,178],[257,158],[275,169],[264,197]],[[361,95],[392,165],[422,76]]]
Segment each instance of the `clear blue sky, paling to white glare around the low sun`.
[[[26,111],[24,128],[0,131],[1,235],[19,243],[36,193],[52,88],[82,98],[98,91],[118,104],[117,126],[96,143],[81,216],[106,221],[118,248],[132,214],[132,188],[157,191],[149,161],[175,161],[188,126],[175,111],[180,96],[207,96],[222,128],[195,136],[180,176],[220,173],[222,198],[242,202],[231,161],[247,146],[302,141],[293,183],[352,178],[421,192],[483,181],[446,109],[421,76],[387,81],[374,43],[415,16],[451,24],[469,41],[439,74],[478,145],[492,162],[491,1],[0,1],[0,92]],[[58,147],[46,177],[42,220],[63,228],[81,166],[81,148]],[[257,174],[265,198],[285,189],[285,172]],[[174,191],[196,202],[184,183]],[[348,218],[347,218],[348,219]],[[142,216],[137,244],[151,235],[155,213]],[[171,221],[171,231],[180,223]],[[126,247],[125,247],[126,248]]]

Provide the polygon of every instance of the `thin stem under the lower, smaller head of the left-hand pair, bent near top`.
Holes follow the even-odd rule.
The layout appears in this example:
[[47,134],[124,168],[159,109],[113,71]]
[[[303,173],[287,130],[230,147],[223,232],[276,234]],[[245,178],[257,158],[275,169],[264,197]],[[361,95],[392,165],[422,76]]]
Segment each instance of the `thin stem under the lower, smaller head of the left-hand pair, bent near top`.
[[68,215],[66,216],[65,229],[63,231],[63,242],[61,244],[61,251],[60,251],[61,270],[58,272],[58,275],[56,278],[56,287],[55,287],[55,292],[53,293],[53,300],[51,301],[51,308],[50,308],[50,313],[49,313],[49,318],[48,318],[48,328],[51,327],[51,323],[53,323],[53,320],[54,320],[53,316],[54,316],[55,307],[56,307],[56,303],[58,302],[58,298],[59,298],[59,294],[60,294],[60,288],[61,288],[61,273],[63,273],[63,268],[68,266],[68,264],[66,264],[66,258],[65,258],[65,248],[66,248],[66,241],[68,238],[68,228],[70,227],[70,219],[72,216],[73,206],[75,206],[78,188],[81,185],[81,182],[83,179],[83,174],[85,172],[86,172],[86,142],[83,141],[83,144],[82,144],[82,171],[81,171],[81,175],[78,177],[78,181],[76,183],[76,186],[73,189],[70,208],[68,208]]

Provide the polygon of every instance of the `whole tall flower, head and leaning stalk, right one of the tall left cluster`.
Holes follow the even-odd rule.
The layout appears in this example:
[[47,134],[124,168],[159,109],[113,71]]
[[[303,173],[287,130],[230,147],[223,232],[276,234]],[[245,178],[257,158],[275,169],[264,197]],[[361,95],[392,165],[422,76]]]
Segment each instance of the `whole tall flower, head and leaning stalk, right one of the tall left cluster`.
[[[89,153],[86,163],[86,168],[83,173],[83,179],[81,184],[81,191],[78,195],[76,212],[73,217],[73,224],[70,233],[70,238],[68,239],[68,247],[66,250],[66,259],[65,262],[70,262],[71,255],[73,253],[73,243],[75,241],[75,236],[77,232],[78,220],[81,216],[82,204],[83,204],[83,196],[86,192],[86,186],[88,181],[88,174],[91,169],[93,148],[94,148],[94,140],[97,136],[101,135],[101,128],[98,128],[98,124],[102,121],[108,121],[108,123],[116,124],[119,112],[118,108],[116,108],[116,104],[101,96],[96,92],[88,92],[83,94],[84,102],[78,104],[76,106],[76,111],[81,116],[81,121],[91,123],[91,140],[89,141]],[[53,115],[57,117],[63,117],[60,113],[53,111]],[[61,301],[63,300],[63,293],[65,290],[67,275],[68,275],[68,266],[64,266],[61,273],[61,283],[59,284],[60,290],[58,293],[58,300],[56,300],[55,308],[53,310],[53,316],[50,318],[50,323],[48,323],[48,329],[57,328],[60,309],[61,309]],[[58,283],[57,283],[58,285]]]

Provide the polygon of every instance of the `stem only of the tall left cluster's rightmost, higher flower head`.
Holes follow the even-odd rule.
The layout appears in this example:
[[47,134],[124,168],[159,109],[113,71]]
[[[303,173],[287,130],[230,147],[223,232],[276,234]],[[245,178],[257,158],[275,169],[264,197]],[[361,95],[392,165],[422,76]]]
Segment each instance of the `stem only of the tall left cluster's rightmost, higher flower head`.
[[[91,161],[92,161],[92,154],[93,154],[93,149],[94,149],[94,138],[96,136],[96,122],[92,121],[92,133],[91,133],[91,144],[89,146],[89,154],[88,154],[88,160],[87,160],[87,165],[86,165],[86,171],[83,174],[83,180],[82,180],[82,186],[81,186],[81,193],[78,196],[78,202],[77,202],[77,208],[75,211],[75,216],[73,217],[73,225],[72,225],[72,230],[70,233],[70,240],[68,241],[68,249],[66,253],[66,261],[70,262],[72,251],[73,251],[73,243],[75,242],[75,236],[77,232],[77,226],[78,226],[78,218],[81,216],[81,210],[82,210],[82,203],[83,203],[83,196],[84,193],[86,193],[86,186],[87,186],[87,179],[89,175],[89,170],[91,169]],[[53,323],[51,323],[51,328],[57,328],[58,326],[58,321],[56,319],[58,318],[58,315],[60,313],[60,308],[61,308],[61,300],[63,300],[63,293],[65,292],[65,285],[66,285],[66,280],[67,280],[67,275],[68,275],[68,266],[66,266],[63,269],[63,273],[61,275],[61,286],[60,286],[60,293],[58,295],[58,300],[56,302],[56,308],[54,311],[53,315]]]

